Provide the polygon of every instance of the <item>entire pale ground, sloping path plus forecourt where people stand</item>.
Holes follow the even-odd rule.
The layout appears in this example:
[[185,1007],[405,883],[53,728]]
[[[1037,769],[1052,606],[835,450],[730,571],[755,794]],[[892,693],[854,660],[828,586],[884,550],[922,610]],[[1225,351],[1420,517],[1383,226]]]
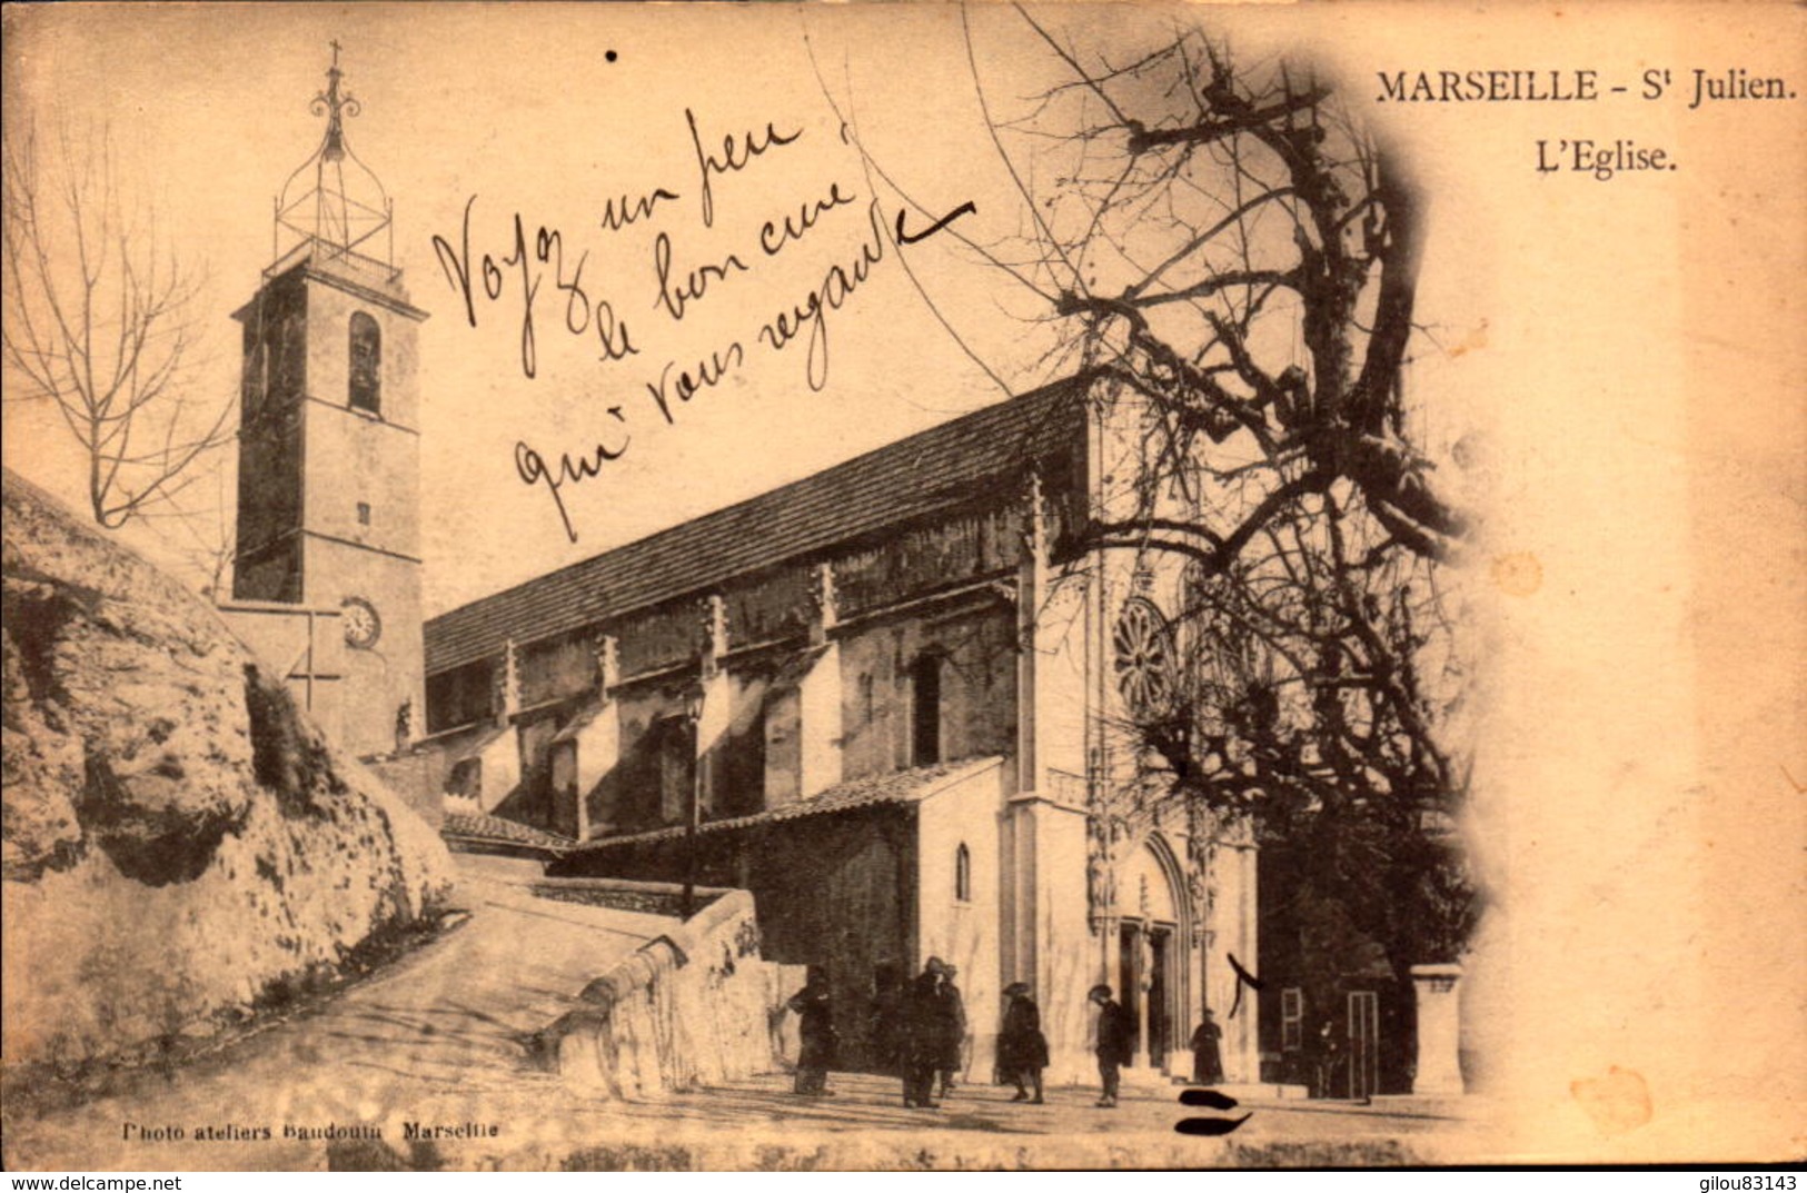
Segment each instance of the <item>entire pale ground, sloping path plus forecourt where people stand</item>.
[[[520,1038],[669,920],[538,900],[524,873],[468,860],[463,925],[204,1061],[9,1123],[7,1166],[322,1170],[329,1151],[425,1168],[1399,1164],[1469,1130],[1438,1106],[1267,1103],[1238,1108],[1252,1113],[1232,1137],[1189,1139],[1173,1132],[1191,1113],[1176,1090],[1097,1110],[1091,1088],[1030,1106],[967,1086],[925,1112],[902,1106],[894,1079],[858,1074],[835,1074],[826,1099],[795,1097],[782,1074],[654,1103],[587,1097],[535,1068]],[[450,1133],[421,1139],[432,1128]]]

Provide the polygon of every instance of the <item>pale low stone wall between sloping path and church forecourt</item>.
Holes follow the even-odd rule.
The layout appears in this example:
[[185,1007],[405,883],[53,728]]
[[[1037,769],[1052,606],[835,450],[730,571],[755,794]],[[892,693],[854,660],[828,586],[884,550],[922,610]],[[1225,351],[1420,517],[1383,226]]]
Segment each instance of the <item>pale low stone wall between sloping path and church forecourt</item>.
[[804,969],[759,956],[752,895],[699,895],[714,902],[591,982],[584,1005],[542,1032],[569,1085],[647,1099],[772,1072],[793,1052],[784,1005]]

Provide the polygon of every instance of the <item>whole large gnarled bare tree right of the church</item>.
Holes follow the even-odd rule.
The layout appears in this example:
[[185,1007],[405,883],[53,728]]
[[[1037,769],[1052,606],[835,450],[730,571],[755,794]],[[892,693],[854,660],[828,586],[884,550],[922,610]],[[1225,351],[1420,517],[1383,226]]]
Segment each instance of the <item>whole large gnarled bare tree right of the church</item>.
[[1108,378],[1093,392],[1133,414],[1115,423],[1144,428],[1081,544],[1189,569],[1171,676],[1120,725],[1144,781],[1095,819],[1178,794],[1194,819],[1256,824],[1297,902],[1337,907],[1400,978],[1453,958],[1475,891],[1451,833],[1464,660],[1440,566],[1465,519],[1408,387],[1420,197],[1310,67],[1187,25],[1108,54],[1017,14],[1059,65],[1025,112],[997,107],[967,38],[1019,228],[949,231],[1034,304],[1044,365]]

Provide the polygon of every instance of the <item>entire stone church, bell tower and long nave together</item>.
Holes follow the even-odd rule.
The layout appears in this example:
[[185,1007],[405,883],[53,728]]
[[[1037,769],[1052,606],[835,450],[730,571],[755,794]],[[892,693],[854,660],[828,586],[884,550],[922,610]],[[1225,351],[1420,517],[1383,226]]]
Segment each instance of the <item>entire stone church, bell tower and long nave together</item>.
[[[954,963],[987,1079],[1028,982],[1053,1079],[1095,1079],[1109,983],[1147,1070],[1211,1007],[1259,1077],[1256,848],[1138,777],[1124,725],[1171,683],[1182,569],[1095,550],[1142,410],[1070,378],[421,620],[416,331],[390,202],[320,148],[276,204],[244,325],[229,624],[423,810],[569,841],[564,873],[755,895],[766,956],[831,985],[847,1066],[873,1009]],[[692,817],[698,824],[690,833]]]

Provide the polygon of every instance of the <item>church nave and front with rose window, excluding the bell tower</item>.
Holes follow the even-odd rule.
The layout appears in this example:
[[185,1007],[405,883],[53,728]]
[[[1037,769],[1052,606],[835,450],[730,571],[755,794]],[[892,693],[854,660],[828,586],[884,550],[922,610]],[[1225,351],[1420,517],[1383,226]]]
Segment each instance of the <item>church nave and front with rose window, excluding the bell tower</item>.
[[1095,1079],[1108,983],[1137,1066],[1189,1074],[1211,1007],[1256,1081],[1252,837],[1164,799],[1126,728],[1184,578],[1084,542],[1138,425],[1072,378],[430,620],[445,790],[569,837],[564,873],[754,891],[847,1066],[938,956],[972,1079],[1028,982],[1057,1079]]

